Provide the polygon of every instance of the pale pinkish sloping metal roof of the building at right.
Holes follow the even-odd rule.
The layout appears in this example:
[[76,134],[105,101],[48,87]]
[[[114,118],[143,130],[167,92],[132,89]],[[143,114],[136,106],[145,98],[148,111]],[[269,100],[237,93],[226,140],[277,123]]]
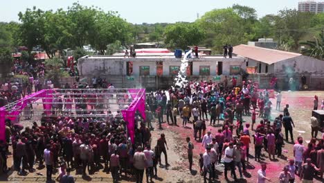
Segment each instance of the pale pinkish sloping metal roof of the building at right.
[[233,53],[243,56],[245,58],[250,58],[259,62],[264,62],[266,64],[273,64],[282,60],[295,58],[301,55],[300,53],[280,51],[275,49],[264,49],[258,46],[248,46],[245,44],[234,46]]

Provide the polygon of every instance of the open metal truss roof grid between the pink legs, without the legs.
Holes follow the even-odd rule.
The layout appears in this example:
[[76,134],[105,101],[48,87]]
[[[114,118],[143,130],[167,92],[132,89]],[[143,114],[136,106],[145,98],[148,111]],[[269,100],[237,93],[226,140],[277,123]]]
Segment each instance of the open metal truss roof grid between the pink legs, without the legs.
[[[131,105],[138,92],[129,89],[50,89],[51,94],[21,98],[4,106],[6,116],[73,116],[73,117],[105,117],[120,115]],[[131,90],[134,91],[134,90]],[[48,92],[48,91],[46,91]],[[21,105],[28,104],[28,105]],[[30,106],[32,105],[32,106]],[[51,105],[44,109],[40,105]],[[15,113],[13,113],[15,112]]]

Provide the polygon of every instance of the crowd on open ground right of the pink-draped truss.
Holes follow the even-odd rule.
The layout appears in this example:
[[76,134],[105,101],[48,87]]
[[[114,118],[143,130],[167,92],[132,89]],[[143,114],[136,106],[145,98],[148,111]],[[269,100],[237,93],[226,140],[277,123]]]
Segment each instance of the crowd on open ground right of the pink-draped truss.
[[[288,104],[283,109],[283,113],[273,119],[271,118],[272,103],[269,100],[267,89],[258,92],[258,83],[251,81],[243,82],[241,88],[235,85],[235,81],[232,83],[233,87],[228,87],[226,82],[219,85],[211,81],[196,81],[190,82],[188,87],[172,88],[168,92],[160,90],[147,95],[147,114],[149,114],[147,116],[156,116],[160,127],[163,123],[163,114],[166,115],[169,125],[181,125],[177,119],[181,119],[182,127],[186,127],[187,123],[192,123],[193,138],[198,142],[201,141],[201,146],[206,149],[200,154],[199,159],[204,182],[215,179],[217,164],[224,164],[226,180],[228,180],[227,171],[231,171],[231,177],[237,180],[236,167],[240,178],[244,179],[246,165],[250,164],[249,157],[254,157],[255,162],[262,162],[261,160],[264,160],[263,157],[265,157],[262,153],[264,150],[270,161],[276,161],[276,157],[284,157],[282,146],[287,146],[285,143],[290,143],[288,134],[290,134],[291,143],[295,143],[293,135],[295,124],[289,114]],[[282,94],[278,92],[276,98],[276,110],[280,111]],[[250,123],[244,125],[242,116],[251,116],[252,125]],[[262,119],[258,125],[255,124],[257,116]],[[313,121],[316,122],[312,123],[316,123],[318,126],[317,119],[313,118]],[[219,123],[219,119],[222,120],[222,123]],[[211,134],[210,131],[206,133],[208,122],[209,125],[220,127],[216,134]],[[285,135],[282,132],[283,128]],[[303,182],[312,181],[316,175],[315,171],[320,177],[323,177],[324,143],[323,139],[316,141],[317,132],[318,130],[314,134],[314,139],[309,142],[309,148],[300,147],[303,146],[301,145],[303,137],[298,137],[298,143],[294,145],[294,159],[291,159],[290,164],[284,168],[284,170],[288,168],[291,177],[287,177],[286,170],[280,173],[280,182],[294,182],[295,171],[296,175],[303,179]],[[190,137],[187,137],[187,142],[186,149],[191,170],[193,145],[190,142]],[[249,151],[251,143],[254,145],[254,156]],[[303,152],[300,153],[302,150]],[[312,161],[309,164],[309,152],[311,151]],[[293,168],[295,166],[296,168]],[[266,168],[267,164],[262,163],[262,169],[258,172],[258,182],[270,181],[265,176]],[[206,177],[208,174],[209,179]]]

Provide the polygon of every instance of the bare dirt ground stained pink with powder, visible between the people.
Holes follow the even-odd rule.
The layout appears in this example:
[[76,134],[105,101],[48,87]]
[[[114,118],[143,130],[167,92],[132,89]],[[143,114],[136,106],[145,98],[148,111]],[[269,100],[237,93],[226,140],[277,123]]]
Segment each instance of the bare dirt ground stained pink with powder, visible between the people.
[[[321,101],[324,98],[324,92],[282,92],[282,103],[281,110],[285,107],[286,103],[289,103],[289,112],[292,119],[296,125],[294,128],[294,139],[298,136],[304,137],[304,145],[307,146],[307,141],[309,141],[310,135],[310,121],[309,118],[312,114],[313,108],[313,97],[317,95]],[[282,111],[276,111],[276,99],[272,100],[273,106],[271,110],[272,116],[278,116]],[[209,116],[208,116],[209,118]],[[246,122],[251,123],[251,116],[244,116]],[[260,119],[257,119],[257,124]],[[23,122],[27,125],[27,121]],[[177,120],[178,125],[181,125],[181,119]],[[220,121],[222,123],[222,121]],[[208,121],[209,124],[209,121]],[[31,125],[31,124],[30,124]],[[217,132],[218,128],[208,125],[207,130],[211,130],[212,134]],[[155,123],[155,129],[152,131],[152,147],[156,145],[156,140],[160,137],[161,133],[165,134],[167,139],[169,150],[168,152],[168,162],[170,166],[158,168],[158,177],[154,179],[154,182],[204,182],[202,176],[199,175],[198,168],[198,156],[199,153],[204,153],[204,148],[201,146],[200,142],[192,140],[195,145],[194,149],[194,164],[192,173],[190,173],[188,168],[188,160],[186,149],[183,148],[186,145],[186,137],[193,139],[192,124],[188,124],[187,128],[182,128],[181,126],[168,125],[168,123],[163,123],[163,129],[159,129],[158,125]],[[253,132],[250,131],[251,134]],[[321,138],[322,134],[318,134],[318,138]],[[283,166],[287,165],[287,159],[293,158],[293,144],[285,142],[285,147],[282,148],[282,158],[277,158],[276,160],[269,161],[267,152],[262,150],[262,162],[267,162],[267,177],[271,177],[272,182],[279,182],[278,175],[282,171]],[[254,155],[253,145],[250,148],[250,155]],[[161,155],[162,164],[165,164],[165,157]],[[12,165],[12,156],[9,156],[8,166]],[[37,166],[37,165],[36,165]],[[35,167],[36,167],[35,166]],[[247,166],[247,172],[244,173],[246,180],[240,180],[237,182],[257,182],[257,171],[260,169],[260,162],[255,162],[253,158],[250,159],[250,164]],[[218,165],[216,167],[217,172],[217,182],[226,182],[224,180],[224,166]],[[41,173],[41,174],[39,174]],[[75,171],[73,171],[73,175]],[[40,170],[36,169],[34,173],[28,173],[26,176],[17,175],[17,172],[10,171],[8,176],[0,177],[0,181],[10,181],[10,182],[45,182],[46,168]],[[56,174],[57,175],[57,174]],[[53,177],[56,177],[53,175]],[[237,171],[238,175],[238,171]],[[75,175],[76,182],[112,182],[111,175],[107,173],[96,172],[94,175],[90,175],[87,179],[82,178],[80,175]],[[144,175],[144,182],[146,182]],[[233,179],[230,178],[230,182]],[[120,182],[134,182],[134,180],[123,180]],[[295,182],[300,182],[298,177]],[[323,180],[314,180],[314,182],[323,182]]]

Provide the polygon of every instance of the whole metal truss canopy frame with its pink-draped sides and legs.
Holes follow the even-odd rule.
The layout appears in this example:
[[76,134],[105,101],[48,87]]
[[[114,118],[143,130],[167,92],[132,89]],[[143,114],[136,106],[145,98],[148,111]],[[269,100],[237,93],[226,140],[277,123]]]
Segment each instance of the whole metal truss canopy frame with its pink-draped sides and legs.
[[[64,104],[64,98],[71,101]],[[33,103],[36,105],[32,110]],[[105,118],[118,115],[127,121],[127,131],[134,143],[137,111],[145,119],[145,89],[43,89],[0,108],[0,140],[6,140],[6,118],[19,122],[21,116]]]

